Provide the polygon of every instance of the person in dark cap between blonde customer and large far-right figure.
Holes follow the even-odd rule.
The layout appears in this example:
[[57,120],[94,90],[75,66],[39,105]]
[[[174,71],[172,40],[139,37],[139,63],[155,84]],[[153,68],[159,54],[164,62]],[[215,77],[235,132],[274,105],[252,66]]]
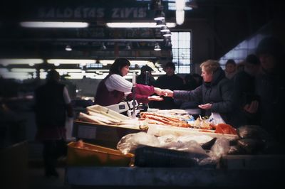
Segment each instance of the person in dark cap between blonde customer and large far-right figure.
[[260,61],[257,55],[247,55],[244,70],[234,76],[234,96],[237,104],[235,125],[259,124],[257,112],[259,97],[255,94],[255,77],[259,72]]

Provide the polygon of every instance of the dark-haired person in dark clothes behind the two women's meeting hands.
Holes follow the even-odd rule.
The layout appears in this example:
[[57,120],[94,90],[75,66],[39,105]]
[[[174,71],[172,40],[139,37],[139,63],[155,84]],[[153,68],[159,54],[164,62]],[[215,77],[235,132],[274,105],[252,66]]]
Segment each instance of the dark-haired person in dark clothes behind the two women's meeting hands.
[[[165,65],[165,75],[161,75],[157,78],[155,86],[160,89],[170,89],[170,90],[182,90],[183,79],[175,75],[175,64],[169,62]],[[158,94],[157,94],[158,95]],[[164,102],[155,102],[153,107],[159,109],[175,109],[178,108],[174,100],[170,97],[163,97]]]

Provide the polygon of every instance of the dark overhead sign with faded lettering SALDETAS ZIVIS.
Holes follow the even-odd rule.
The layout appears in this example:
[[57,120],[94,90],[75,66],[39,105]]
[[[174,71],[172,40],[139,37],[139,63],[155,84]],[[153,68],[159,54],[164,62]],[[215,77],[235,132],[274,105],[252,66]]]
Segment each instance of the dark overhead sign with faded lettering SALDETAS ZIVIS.
[[[125,1],[124,1],[125,2]],[[164,5],[167,13],[167,4]],[[22,4],[21,12],[26,18],[38,20],[146,20],[152,19],[154,11],[150,9],[150,2],[131,1],[129,4],[120,1],[73,1],[68,4]]]

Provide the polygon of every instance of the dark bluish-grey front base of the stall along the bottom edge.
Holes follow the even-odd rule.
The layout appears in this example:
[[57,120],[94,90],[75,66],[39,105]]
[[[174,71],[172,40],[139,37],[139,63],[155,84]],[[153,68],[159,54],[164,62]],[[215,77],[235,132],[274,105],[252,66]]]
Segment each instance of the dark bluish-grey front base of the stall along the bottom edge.
[[284,169],[68,167],[66,181],[76,186],[234,187],[284,185]]

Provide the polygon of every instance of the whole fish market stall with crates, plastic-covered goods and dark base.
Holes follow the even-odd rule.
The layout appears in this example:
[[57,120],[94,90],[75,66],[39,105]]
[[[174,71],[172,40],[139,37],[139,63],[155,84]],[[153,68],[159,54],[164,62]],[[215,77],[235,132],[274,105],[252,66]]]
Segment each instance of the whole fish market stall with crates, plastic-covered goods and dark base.
[[[81,140],[68,144],[66,182],[73,187],[247,187],[281,183],[285,157],[261,154],[258,144],[250,146],[246,139],[252,133],[247,131],[254,127],[237,129],[236,133],[233,128],[222,127],[227,133],[221,133],[203,119],[183,122],[182,118],[191,118],[185,112],[176,116],[171,112],[179,111],[167,111],[166,115],[145,112],[130,119],[105,107],[87,110],[73,127],[73,136]],[[242,150],[237,146],[247,153],[239,154]]]

